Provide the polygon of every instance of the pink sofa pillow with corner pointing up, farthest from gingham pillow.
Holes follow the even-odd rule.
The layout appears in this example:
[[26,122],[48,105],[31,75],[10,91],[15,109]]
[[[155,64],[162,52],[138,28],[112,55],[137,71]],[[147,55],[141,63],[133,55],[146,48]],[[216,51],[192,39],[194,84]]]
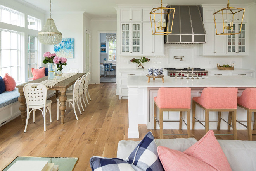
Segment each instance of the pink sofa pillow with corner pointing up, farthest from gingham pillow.
[[216,170],[232,171],[213,130],[209,130],[204,137],[185,150],[184,153],[209,164]]

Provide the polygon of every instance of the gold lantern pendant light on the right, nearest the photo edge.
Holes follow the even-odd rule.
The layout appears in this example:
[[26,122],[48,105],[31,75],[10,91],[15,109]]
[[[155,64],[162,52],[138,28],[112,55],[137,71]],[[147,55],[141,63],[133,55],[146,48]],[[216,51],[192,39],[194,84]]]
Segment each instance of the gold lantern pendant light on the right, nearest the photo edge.
[[[229,0],[228,0],[228,7],[227,8],[223,8],[223,9],[218,10],[217,12],[213,13],[214,22],[215,22],[216,35],[235,35],[235,34],[240,34],[241,33],[241,29],[242,29],[243,19],[244,19],[244,11],[245,11],[244,8],[229,7]],[[219,32],[218,33],[217,27],[216,27],[216,18],[217,18],[217,16],[220,16],[220,15],[222,17],[223,32]],[[240,26],[238,32],[235,32],[235,28],[233,26],[234,15],[242,16],[241,26]]]

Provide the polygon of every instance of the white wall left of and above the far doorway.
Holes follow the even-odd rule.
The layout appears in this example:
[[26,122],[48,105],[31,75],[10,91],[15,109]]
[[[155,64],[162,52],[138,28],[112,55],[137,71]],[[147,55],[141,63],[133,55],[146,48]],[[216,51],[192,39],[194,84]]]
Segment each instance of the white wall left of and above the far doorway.
[[[91,82],[100,83],[100,32],[116,32],[116,20],[101,19],[91,21]],[[117,56],[118,58],[118,56]]]

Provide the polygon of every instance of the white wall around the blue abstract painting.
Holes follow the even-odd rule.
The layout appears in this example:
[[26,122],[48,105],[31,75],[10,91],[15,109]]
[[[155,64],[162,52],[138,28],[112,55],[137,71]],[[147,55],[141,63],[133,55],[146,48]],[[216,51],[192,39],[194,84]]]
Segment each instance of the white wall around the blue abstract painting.
[[[52,12],[51,17],[63,38],[74,38],[74,58],[67,59],[62,72],[74,68],[83,72],[83,12]],[[45,52],[53,49],[54,45],[45,45]]]

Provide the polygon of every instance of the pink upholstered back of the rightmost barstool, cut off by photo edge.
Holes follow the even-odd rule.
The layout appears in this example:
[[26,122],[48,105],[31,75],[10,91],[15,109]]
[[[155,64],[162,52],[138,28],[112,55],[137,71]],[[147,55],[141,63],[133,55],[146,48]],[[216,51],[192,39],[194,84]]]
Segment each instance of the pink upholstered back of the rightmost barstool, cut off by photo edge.
[[256,109],[256,88],[246,88],[237,98],[237,103],[249,109]]

